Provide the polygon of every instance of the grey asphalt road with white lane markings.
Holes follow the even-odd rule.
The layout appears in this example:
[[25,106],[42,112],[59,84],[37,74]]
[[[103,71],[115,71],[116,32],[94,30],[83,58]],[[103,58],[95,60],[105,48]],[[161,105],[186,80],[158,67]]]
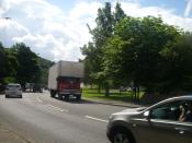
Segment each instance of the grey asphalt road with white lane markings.
[[48,93],[0,95],[0,122],[29,143],[109,143],[109,116],[125,107],[91,102],[63,102]]

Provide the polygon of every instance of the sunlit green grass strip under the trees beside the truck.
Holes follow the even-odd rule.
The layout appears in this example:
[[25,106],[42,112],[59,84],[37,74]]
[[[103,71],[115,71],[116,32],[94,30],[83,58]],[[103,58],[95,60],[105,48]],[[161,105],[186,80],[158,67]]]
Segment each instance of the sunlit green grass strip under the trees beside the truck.
[[92,88],[83,88],[82,90],[82,97],[86,99],[93,99],[93,100],[116,100],[116,102],[131,102],[133,93],[132,92],[121,92],[118,90],[110,90],[110,96],[106,97],[104,95],[104,90],[101,93],[98,93],[98,90]]

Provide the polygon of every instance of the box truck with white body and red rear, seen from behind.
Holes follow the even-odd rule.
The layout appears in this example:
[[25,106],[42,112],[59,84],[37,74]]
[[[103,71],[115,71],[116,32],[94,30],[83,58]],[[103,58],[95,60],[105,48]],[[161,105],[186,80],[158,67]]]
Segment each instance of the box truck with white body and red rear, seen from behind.
[[59,61],[50,67],[48,72],[48,90],[50,96],[58,94],[59,99],[69,100],[72,95],[77,100],[81,99],[80,83],[84,75],[84,67],[81,62]]

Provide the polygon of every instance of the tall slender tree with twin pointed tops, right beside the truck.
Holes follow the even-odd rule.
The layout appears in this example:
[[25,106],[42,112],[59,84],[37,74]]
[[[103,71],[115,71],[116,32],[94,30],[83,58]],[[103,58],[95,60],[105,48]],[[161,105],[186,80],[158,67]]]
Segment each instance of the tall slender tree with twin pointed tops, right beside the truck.
[[111,11],[111,3],[106,2],[103,9],[98,10],[98,17],[95,19],[97,26],[91,29],[92,43],[83,46],[81,52],[86,56],[86,80],[99,84],[99,92],[101,85],[105,86],[106,95],[109,95],[109,79],[103,72],[103,48],[104,45],[113,34],[114,26],[125,16],[120,3],[116,3],[115,12]]

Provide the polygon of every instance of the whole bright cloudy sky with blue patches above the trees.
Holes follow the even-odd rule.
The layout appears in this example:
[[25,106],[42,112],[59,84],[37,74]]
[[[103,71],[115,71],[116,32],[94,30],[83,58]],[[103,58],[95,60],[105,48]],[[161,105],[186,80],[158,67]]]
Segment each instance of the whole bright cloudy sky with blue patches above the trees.
[[[24,43],[52,60],[83,59],[80,47],[91,40],[99,8],[106,0],[0,0],[0,41]],[[114,9],[115,0],[110,1]],[[134,17],[161,16],[163,22],[192,32],[192,0],[118,0]],[[5,19],[10,17],[10,19]]]

